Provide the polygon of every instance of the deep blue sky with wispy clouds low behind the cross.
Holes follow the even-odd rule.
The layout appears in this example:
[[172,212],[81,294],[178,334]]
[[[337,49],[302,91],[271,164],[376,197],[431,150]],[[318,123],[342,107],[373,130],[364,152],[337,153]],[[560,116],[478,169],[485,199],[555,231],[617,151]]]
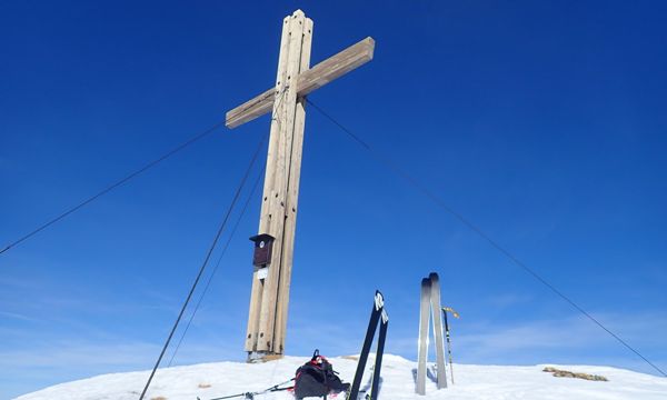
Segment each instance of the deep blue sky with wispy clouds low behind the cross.
[[[0,244],[269,88],[297,8],[312,63],[377,41],[313,102],[667,368],[664,2],[4,2]],[[222,129],[0,256],[0,398],[152,367],[268,128]],[[415,359],[437,271],[459,362],[653,372],[313,109],[302,167],[288,353],[358,352],[379,288],[388,351]],[[243,359],[258,213],[256,193],[177,364]]]

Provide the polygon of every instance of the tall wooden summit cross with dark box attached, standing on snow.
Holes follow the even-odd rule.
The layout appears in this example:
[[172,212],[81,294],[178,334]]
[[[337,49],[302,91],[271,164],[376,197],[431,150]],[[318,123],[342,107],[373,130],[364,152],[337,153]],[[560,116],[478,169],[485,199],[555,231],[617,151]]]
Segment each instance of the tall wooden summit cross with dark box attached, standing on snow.
[[309,68],[311,40],[312,20],[301,10],[286,17],[276,86],[226,116],[226,126],[236,128],[272,111],[259,234],[251,238],[256,248],[246,336],[249,361],[285,351],[306,94],[370,61],[375,49],[372,38],[366,38]]

